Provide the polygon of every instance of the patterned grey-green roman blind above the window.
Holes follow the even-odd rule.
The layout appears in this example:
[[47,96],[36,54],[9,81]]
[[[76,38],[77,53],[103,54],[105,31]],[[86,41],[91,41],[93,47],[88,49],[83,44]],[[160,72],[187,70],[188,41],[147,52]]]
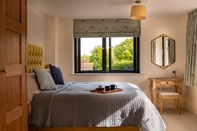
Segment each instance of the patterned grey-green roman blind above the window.
[[140,21],[131,19],[76,19],[74,38],[81,37],[139,37]]

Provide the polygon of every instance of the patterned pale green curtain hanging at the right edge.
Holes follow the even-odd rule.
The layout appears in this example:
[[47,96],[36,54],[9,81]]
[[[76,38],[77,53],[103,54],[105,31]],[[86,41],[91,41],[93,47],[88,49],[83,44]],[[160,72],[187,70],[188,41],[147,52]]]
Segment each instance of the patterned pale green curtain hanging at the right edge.
[[184,85],[197,87],[197,9],[188,14]]

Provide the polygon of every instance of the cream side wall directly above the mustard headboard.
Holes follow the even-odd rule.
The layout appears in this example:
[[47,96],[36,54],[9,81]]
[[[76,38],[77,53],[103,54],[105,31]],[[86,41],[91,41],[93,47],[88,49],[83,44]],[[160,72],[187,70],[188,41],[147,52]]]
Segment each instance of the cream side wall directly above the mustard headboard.
[[45,16],[30,5],[27,5],[27,44],[43,47],[45,52]]

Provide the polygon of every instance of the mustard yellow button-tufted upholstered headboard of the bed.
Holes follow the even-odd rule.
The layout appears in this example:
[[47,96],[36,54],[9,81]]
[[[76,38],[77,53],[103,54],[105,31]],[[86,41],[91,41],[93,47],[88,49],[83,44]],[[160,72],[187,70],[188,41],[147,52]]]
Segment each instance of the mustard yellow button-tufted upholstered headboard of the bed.
[[33,68],[43,68],[43,50],[36,45],[27,45],[27,72],[32,73]]

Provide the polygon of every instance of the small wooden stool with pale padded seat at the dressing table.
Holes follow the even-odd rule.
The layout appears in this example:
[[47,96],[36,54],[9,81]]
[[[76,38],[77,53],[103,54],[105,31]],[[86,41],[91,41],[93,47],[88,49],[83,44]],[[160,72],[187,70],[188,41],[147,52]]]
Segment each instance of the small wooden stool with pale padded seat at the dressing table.
[[160,114],[162,115],[162,108],[163,108],[163,100],[164,99],[173,99],[174,100],[174,109],[175,111],[179,111],[179,114],[181,115],[181,101],[182,101],[182,87],[176,86],[174,92],[158,92],[157,94],[158,98],[158,107]]

